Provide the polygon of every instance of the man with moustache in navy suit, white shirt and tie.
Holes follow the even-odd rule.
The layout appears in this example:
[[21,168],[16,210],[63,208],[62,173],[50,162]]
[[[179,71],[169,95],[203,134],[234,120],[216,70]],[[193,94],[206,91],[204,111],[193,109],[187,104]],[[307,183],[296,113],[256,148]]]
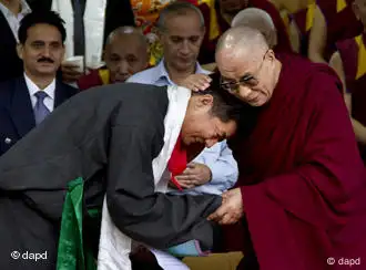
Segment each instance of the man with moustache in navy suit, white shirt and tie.
[[24,74],[0,84],[0,155],[77,93],[55,79],[64,39],[63,21],[52,11],[31,12],[21,21],[17,51]]

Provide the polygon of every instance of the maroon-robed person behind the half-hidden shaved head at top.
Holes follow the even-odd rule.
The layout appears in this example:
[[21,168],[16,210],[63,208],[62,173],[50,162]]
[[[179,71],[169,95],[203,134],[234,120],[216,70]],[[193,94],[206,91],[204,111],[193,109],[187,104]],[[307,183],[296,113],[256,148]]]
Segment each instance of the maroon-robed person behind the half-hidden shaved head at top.
[[[266,11],[275,24],[277,30],[277,51],[291,52],[291,43],[288,39],[288,34],[281,18],[278,10],[275,8],[273,3],[267,0],[220,0],[215,2],[215,17],[216,23],[212,22],[212,10],[206,3],[202,3],[199,6],[206,25],[206,32],[204,40],[202,42],[201,52],[199,55],[199,62],[202,64],[213,63],[215,62],[215,46],[220,35],[230,29],[232,20],[234,17],[243,9],[246,8],[257,8]],[[215,28],[215,30],[212,30]],[[213,31],[217,32],[215,37],[211,37]]]

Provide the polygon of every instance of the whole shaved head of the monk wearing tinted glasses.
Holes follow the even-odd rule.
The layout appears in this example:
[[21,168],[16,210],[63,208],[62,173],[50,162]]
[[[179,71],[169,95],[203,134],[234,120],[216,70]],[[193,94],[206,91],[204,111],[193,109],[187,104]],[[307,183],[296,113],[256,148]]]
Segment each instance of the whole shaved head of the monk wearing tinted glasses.
[[218,40],[215,58],[222,87],[252,106],[270,101],[282,65],[257,29],[227,30]]

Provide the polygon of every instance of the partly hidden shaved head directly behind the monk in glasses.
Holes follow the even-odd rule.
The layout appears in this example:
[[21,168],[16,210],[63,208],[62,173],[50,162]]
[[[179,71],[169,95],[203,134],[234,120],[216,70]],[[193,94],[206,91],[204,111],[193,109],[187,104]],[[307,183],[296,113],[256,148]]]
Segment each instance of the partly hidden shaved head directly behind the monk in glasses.
[[232,28],[248,27],[258,30],[266,39],[270,48],[277,43],[277,31],[271,15],[262,9],[247,8],[238,12],[233,21]]

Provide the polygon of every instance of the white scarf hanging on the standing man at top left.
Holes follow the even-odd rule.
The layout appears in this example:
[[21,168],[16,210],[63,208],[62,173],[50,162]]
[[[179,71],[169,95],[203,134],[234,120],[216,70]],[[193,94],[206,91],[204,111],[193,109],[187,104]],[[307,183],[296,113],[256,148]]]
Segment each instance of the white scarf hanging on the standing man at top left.
[[[73,50],[73,9],[72,0],[53,0],[52,10],[60,13],[65,22],[65,59],[74,55]],[[103,53],[104,19],[106,0],[88,0],[84,12],[85,64],[99,68]]]

